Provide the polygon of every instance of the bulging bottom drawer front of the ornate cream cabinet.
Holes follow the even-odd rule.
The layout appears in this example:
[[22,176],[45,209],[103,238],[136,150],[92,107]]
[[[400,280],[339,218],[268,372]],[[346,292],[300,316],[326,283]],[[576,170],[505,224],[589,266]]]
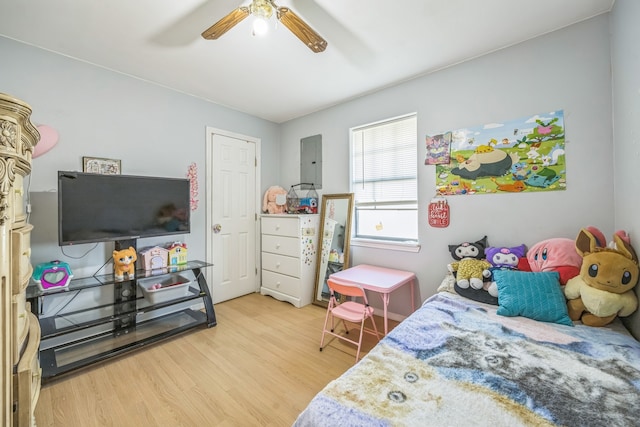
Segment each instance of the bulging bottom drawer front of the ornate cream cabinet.
[[17,373],[14,377],[14,396],[18,400],[17,425],[35,425],[34,411],[38,398],[42,370],[38,361],[38,348],[40,346],[40,325],[38,319],[29,313],[29,338],[22,358],[18,363]]

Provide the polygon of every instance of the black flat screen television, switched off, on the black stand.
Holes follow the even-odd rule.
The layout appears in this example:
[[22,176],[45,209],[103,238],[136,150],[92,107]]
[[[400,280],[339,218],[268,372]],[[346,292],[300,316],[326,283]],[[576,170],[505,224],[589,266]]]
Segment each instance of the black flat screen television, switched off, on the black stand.
[[187,234],[190,181],[58,171],[58,244]]

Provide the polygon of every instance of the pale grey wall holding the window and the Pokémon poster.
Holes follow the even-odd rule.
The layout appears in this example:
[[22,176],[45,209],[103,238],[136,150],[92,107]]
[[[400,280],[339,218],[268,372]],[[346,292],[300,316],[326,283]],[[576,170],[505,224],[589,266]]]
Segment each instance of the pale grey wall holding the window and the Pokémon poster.
[[[290,165],[283,182],[297,182],[300,139],[322,134],[322,191],[347,192],[349,128],[416,111],[421,251],[353,247],[351,260],[414,271],[424,300],[451,262],[449,244],[486,234],[490,245],[530,246],[551,237],[575,238],[588,225],[613,232],[610,82],[603,15],[283,124],[282,157]],[[565,115],[566,191],[448,197],[451,225],[429,227],[435,169],[423,165],[425,135],[558,109]],[[409,306],[408,292],[394,295],[390,311],[406,314]]]

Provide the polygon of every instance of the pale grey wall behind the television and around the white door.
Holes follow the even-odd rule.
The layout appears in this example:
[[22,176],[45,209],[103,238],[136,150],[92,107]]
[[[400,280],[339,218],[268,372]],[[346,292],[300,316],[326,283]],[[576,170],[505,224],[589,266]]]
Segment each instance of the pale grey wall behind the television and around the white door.
[[[33,123],[53,126],[60,134],[58,145],[33,161],[32,192],[55,189],[58,170],[82,170],[82,156],[121,159],[128,175],[179,178],[195,162],[200,203],[185,241],[194,259],[205,259],[206,127],[261,138],[262,161],[274,165],[262,168],[262,182],[268,186],[279,178],[279,127],[274,123],[2,37],[0,57],[0,91],[30,104]],[[113,203],[127,202],[112,197]],[[111,256],[113,245],[99,245],[86,256],[91,245],[65,247],[62,253],[57,201],[46,195],[37,199],[40,203],[32,205],[38,221],[33,264],[60,259],[78,274],[92,274]]]

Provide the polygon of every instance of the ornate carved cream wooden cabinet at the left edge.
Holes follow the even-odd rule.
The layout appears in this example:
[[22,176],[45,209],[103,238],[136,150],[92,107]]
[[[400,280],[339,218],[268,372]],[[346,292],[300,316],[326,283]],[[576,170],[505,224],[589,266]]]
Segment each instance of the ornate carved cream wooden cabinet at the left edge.
[[33,272],[24,177],[40,134],[31,107],[0,93],[0,336],[3,426],[35,425],[40,394],[40,325],[26,302]]

